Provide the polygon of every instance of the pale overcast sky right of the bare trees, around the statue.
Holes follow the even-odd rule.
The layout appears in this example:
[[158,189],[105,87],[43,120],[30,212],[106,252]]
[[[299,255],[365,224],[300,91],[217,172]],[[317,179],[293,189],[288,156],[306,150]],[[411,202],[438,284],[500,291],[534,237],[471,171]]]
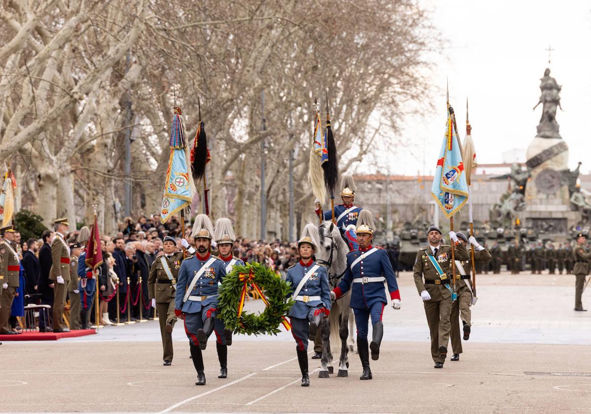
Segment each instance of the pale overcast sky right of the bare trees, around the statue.
[[[407,175],[433,172],[446,122],[446,76],[462,140],[469,98],[479,163],[500,163],[502,152],[525,150],[540,121],[541,105],[535,112],[532,108],[540,98],[540,78],[549,66],[550,75],[563,86],[564,111],[559,110],[556,118],[569,145],[569,166],[573,169],[582,161],[581,171],[589,173],[591,2],[424,0],[424,4],[449,40],[449,47],[436,58],[431,96],[436,110],[423,119],[405,119],[404,135],[413,147],[392,148],[389,161],[379,162],[379,170]],[[554,49],[550,65],[549,45]],[[363,162],[355,173],[375,172],[369,163]]]

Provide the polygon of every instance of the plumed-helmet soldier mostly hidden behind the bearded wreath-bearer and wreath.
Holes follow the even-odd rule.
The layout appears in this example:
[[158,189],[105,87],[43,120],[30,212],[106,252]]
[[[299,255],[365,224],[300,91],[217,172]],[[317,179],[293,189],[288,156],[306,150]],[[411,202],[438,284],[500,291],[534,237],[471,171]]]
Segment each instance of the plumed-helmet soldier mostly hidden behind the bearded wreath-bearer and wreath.
[[[224,263],[226,274],[230,273],[234,266],[244,266],[242,260],[232,255],[236,236],[229,218],[217,219],[213,240],[217,243],[219,258]],[[220,374],[217,378],[228,378],[228,347],[232,345],[232,331],[225,329],[220,318],[216,318],[213,330],[216,334],[217,359],[220,362]]]

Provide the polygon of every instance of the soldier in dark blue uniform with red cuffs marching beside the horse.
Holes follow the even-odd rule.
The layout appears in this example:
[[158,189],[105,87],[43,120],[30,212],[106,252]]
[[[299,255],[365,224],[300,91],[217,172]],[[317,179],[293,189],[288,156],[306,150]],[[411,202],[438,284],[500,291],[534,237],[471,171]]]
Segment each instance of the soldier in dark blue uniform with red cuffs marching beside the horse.
[[374,218],[368,210],[362,210],[357,221],[357,241],[359,250],[347,254],[345,275],[331,293],[332,299],[339,299],[353,284],[351,292],[351,308],[355,314],[357,325],[357,347],[359,359],[363,366],[363,374],[359,379],[371,380],[368,350],[368,322],[371,316],[373,334],[371,348],[372,360],[379,358],[379,346],[384,335],[382,314],[388,304],[384,292],[384,281],[388,285],[392,308],[400,309],[400,292],[396,276],[388,257],[388,252],[381,247],[371,245],[374,238]]

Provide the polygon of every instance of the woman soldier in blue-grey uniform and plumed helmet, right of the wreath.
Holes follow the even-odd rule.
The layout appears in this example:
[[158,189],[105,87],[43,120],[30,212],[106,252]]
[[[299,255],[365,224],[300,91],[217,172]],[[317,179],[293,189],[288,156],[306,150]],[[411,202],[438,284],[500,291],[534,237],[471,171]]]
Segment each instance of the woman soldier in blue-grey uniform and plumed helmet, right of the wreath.
[[[316,231],[314,231],[316,230]],[[291,283],[292,298],[296,302],[289,316],[291,333],[296,339],[296,352],[301,370],[301,386],[310,386],[308,376],[308,338],[314,340],[320,318],[330,314],[329,275],[313,259],[319,246],[316,227],[309,223],[298,241],[300,261],[287,270],[285,282]]]

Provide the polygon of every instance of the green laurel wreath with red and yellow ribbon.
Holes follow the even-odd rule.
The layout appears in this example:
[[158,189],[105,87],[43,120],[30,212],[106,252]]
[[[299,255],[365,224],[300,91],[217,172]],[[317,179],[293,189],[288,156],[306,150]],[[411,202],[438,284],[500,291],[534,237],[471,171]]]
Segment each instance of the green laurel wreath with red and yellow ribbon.
[[[267,305],[260,315],[242,311],[248,286],[262,293]],[[226,329],[235,334],[277,335],[281,332],[279,325],[288,326],[285,315],[294,303],[291,287],[277,273],[260,263],[234,266],[223,279],[219,292],[219,318]]]

